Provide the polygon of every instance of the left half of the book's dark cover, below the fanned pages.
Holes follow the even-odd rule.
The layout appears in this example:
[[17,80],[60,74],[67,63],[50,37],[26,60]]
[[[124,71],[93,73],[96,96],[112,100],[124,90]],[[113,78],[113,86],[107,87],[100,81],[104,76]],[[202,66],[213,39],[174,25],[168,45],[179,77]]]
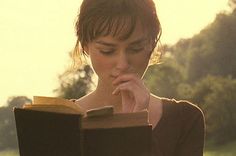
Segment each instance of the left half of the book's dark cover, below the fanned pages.
[[81,115],[14,108],[20,156],[82,156]]

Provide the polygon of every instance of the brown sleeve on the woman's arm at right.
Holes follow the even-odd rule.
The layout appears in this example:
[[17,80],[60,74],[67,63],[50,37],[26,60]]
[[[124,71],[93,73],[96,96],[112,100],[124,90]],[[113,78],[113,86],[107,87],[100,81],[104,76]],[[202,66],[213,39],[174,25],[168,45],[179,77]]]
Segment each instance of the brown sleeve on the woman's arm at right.
[[203,156],[205,140],[205,119],[197,106],[182,101],[181,135],[176,148],[176,156]]

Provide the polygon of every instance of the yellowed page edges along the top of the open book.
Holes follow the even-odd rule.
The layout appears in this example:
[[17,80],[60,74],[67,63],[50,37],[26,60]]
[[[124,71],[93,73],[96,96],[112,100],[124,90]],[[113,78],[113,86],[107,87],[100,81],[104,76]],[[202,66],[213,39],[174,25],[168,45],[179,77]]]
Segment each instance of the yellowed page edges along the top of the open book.
[[23,109],[46,111],[64,114],[81,114],[82,127],[94,128],[118,128],[149,125],[148,111],[134,113],[114,113],[112,106],[85,111],[74,102],[57,97],[34,96],[32,104],[25,104]]

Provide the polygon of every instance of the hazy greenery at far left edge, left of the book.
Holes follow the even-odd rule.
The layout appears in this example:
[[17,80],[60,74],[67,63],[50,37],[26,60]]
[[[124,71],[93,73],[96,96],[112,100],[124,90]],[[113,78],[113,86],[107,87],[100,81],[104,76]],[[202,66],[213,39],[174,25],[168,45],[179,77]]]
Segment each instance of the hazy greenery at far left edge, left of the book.
[[17,148],[13,107],[22,107],[31,100],[25,96],[10,97],[6,107],[0,107],[0,150]]

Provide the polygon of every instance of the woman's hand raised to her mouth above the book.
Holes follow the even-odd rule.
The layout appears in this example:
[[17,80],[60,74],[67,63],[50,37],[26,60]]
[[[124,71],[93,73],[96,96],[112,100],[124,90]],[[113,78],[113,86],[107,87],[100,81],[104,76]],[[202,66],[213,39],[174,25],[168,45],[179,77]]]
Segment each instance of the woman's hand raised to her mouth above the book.
[[121,95],[122,112],[138,112],[149,107],[150,92],[136,74],[118,76],[113,85],[116,86],[113,95]]

